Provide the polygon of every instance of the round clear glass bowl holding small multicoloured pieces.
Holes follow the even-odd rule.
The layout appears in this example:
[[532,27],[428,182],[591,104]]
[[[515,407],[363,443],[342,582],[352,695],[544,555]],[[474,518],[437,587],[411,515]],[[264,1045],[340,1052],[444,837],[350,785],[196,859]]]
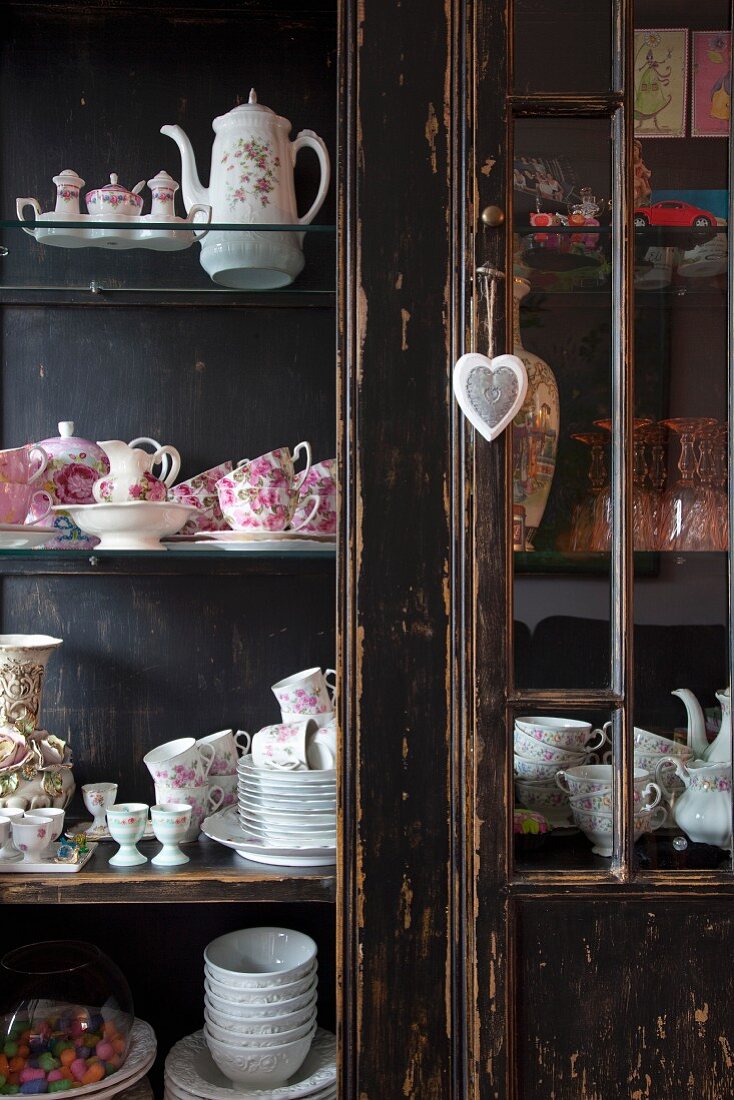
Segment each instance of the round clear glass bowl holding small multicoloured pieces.
[[124,1064],[133,1022],[124,975],[94,944],[52,939],[0,959],[8,1085],[33,1080],[34,1091],[55,1092],[97,1084]]

